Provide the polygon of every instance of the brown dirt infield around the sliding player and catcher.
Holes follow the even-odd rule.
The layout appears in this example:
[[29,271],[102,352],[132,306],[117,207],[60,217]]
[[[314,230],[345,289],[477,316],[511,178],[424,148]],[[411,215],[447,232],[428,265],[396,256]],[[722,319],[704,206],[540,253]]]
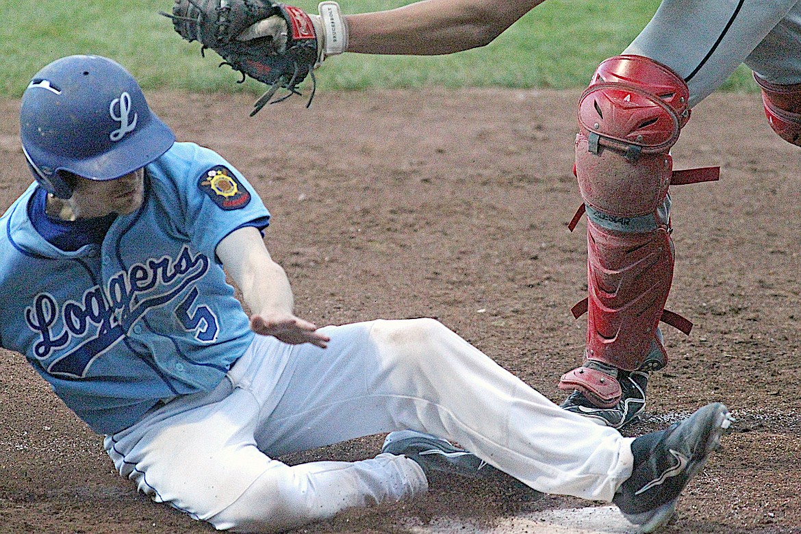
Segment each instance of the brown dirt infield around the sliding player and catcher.
[[[298,315],[318,324],[440,319],[553,400],[580,362],[585,226],[571,174],[578,91],[318,94],[248,118],[253,98],[150,94],[179,140],[214,148],[264,197],[268,248]],[[0,99],[2,210],[30,183],[18,100]],[[759,95],[714,94],[693,112],[675,167],[720,165],[719,183],[674,187],[674,290],[695,323],[666,328],[670,365],[650,383],[662,428],[713,400],[738,417],[666,532],[801,532],[801,151],[773,135]],[[138,496],[101,440],[22,356],[0,359],[0,532],[212,532]],[[284,460],[356,460],[382,436]],[[598,503],[601,504],[601,503]],[[298,532],[411,532],[449,519],[491,527],[586,506],[529,503],[501,488],[438,481],[425,498],[345,513]],[[525,532],[525,531],[521,531]]]

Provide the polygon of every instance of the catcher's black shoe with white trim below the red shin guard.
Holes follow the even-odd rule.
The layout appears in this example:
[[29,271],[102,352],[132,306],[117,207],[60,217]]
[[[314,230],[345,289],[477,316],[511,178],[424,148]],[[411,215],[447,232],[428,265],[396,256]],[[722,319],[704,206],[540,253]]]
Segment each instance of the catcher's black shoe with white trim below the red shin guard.
[[598,408],[581,391],[568,395],[561,408],[580,416],[590,417],[607,427],[623,428],[638,420],[646,408],[646,371],[618,371],[618,382],[622,395],[612,408]]

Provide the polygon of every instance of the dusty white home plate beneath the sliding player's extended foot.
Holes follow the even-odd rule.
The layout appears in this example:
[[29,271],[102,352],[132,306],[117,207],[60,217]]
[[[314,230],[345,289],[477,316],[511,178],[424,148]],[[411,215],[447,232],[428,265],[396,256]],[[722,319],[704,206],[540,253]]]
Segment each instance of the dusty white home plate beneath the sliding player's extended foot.
[[409,525],[415,534],[636,534],[614,506],[547,510],[505,517],[492,524],[453,519],[434,519],[425,525]]

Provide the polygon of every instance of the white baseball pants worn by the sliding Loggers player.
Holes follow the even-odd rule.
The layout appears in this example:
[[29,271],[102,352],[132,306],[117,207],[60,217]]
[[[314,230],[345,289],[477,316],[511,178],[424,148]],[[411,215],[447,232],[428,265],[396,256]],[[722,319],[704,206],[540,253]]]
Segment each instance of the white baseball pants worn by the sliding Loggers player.
[[214,391],[107,436],[120,474],[155,501],[239,532],[425,492],[422,469],[403,456],[273,459],[405,428],[457,441],[541,492],[610,501],[630,476],[631,438],[558,408],[433,319],[324,331],[327,349],[257,336]]

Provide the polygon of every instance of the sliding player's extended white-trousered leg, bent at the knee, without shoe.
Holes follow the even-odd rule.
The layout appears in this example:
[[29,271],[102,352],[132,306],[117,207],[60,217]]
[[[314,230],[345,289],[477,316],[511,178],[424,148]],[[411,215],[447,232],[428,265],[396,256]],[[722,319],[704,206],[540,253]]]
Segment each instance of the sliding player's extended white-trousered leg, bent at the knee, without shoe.
[[293,349],[291,378],[256,432],[268,456],[411,428],[456,441],[538,491],[600,500],[630,468],[629,440],[564,412],[433,319],[327,333],[327,349]]

